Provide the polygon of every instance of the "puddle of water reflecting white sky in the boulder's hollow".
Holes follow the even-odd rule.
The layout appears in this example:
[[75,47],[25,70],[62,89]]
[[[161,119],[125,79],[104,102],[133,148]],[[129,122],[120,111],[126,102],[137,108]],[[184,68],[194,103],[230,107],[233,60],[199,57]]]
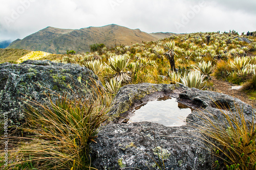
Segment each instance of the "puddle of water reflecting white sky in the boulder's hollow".
[[146,121],[168,127],[182,126],[186,125],[186,117],[190,113],[191,109],[175,98],[164,97],[136,107],[128,123]]

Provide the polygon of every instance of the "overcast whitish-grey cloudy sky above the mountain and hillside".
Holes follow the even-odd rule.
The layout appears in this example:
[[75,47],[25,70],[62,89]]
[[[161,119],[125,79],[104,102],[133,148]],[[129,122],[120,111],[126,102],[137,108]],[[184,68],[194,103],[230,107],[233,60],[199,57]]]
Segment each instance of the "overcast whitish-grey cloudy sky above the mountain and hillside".
[[254,0],[0,0],[0,41],[48,26],[62,29],[115,23],[147,33],[256,31]]

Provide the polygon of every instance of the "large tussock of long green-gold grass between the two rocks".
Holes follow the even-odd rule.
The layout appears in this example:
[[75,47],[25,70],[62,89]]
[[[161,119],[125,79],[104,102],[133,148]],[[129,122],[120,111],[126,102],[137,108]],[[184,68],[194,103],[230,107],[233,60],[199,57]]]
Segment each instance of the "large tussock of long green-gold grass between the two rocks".
[[94,169],[88,144],[108,118],[112,96],[99,89],[87,99],[70,100],[66,94],[47,105],[32,103],[26,110],[23,142],[18,143],[12,166],[39,169]]

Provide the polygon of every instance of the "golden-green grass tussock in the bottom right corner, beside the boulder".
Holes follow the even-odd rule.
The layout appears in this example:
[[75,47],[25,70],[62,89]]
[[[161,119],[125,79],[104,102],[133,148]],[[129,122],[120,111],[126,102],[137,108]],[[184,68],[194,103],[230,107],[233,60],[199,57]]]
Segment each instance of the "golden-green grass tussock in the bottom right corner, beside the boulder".
[[227,108],[223,110],[223,106],[218,107],[224,117],[224,122],[202,114],[204,126],[199,127],[202,134],[209,137],[205,137],[205,141],[209,143],[214,154],[219,158],[215,162],[215,169],[223,169],[223,167],[228,170],[256,169],[255,113],[251,113],[252,120],[246,120],[243,111],[239,108],[236,112],[231,112],[227,111]]

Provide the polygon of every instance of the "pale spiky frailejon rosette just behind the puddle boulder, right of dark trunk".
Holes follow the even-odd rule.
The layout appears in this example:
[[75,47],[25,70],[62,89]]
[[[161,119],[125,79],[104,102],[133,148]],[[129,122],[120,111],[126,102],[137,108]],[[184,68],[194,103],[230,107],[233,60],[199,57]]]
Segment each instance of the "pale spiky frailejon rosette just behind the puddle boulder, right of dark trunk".
[[195,87],[204,89],[206,87],[205,76],[200,74],[200,71],[190,71],[188,74],[185,72],[184,76],[180,78],[181,83],[187,87]]

